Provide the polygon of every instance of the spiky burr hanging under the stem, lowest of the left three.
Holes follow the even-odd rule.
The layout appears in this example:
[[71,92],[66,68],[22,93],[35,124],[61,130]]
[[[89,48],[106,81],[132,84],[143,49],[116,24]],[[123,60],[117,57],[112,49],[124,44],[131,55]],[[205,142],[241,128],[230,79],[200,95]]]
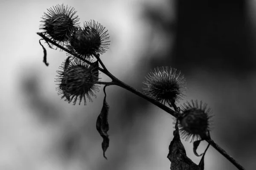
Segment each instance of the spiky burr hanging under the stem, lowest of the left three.
[[86,96],[92,102],[91,96],[96,97],[94,92],[99,91],[99,86],[96,85],[99,71],[81,60],[70,61],[69,58],[62,63],[60,69],[61,71],[57,71],[59,78],[56,82],[60,82],[57,90],[58,94],[63,94],[61,99],[66,98],[65,101],[69,103],[74,99],[73,105],[76,105],[77,99],[79,105],[84,99],[86,105]]

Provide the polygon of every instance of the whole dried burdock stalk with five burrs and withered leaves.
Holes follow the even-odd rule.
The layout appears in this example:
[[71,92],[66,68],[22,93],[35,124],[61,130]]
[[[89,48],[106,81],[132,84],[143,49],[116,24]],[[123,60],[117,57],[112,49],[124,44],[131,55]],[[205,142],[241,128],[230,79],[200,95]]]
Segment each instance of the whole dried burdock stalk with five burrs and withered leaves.
[[[117,85],[126,90],[148,100],[157,107],[163,109],[170,115],[174,116],[175,130],[174,138],[169,145],[169,154],[167,158],[171,161],[171,170],[203,170],[204,156],[209,145],[214,147],[219,153],[226,157],[239,170],[244,170],[235,159],[233,159],[224,149],[216,144],[210,137],[212,110],[203,102],[198,100],[185,102],[178,105],[183,99],[186,92],[186,80],[181,71],[171,66],[158,67],[151,70],[145,77],[144,92],[140,92],[131,86],[121,82],[114,77],[103,64],[100,55],[104,54],[108,48],[109,42],[107,31],[98,22],[84,22],[84,26],[78,25],[78,17],[74,16],[73,8],[64,5],[53,6],[44,13],[43,32],[37,34],[42,37],[41,40],[47,42],[49,47],[53,45],[67,52],[67,59],[57,71],[58,94],[61,99],[72,102],[76,105],[79,101],[86,105],[86,98],[92,102],[92,96],[99,91],[99,85],[104,85],[105,94],[102,111],[96,120],[96,129],[103,138],[102,150],[103,156],[109,146],[108,137],[108,113],[109,105],[106,101],[106,87]],[[44,63],[47,63],[47,51],[44,46]],[[65,46],[64,46],[65,45]],[[100,81],[99,71],[111,78],[111,82]],[[197,165],[186,156],[186,150],[180,140],[193,142],[193,151],[196,156],[202,156],[200,163]],[[208,142],[204,153],[198,154],[197,148],[201,141]],[[107,158],[106,158],[107,159]]]

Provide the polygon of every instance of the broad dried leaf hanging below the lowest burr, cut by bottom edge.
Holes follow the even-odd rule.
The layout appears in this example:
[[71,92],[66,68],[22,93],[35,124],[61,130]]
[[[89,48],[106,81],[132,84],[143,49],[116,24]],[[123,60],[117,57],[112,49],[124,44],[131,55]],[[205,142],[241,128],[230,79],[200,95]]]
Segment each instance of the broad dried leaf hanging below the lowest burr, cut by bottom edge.
[[173,131],[173,139],[169,145],[169,153],[167,158],[172,162],[171,170],[199,170],[197,164],[186,156],[186,150],[180,141],[178,121]]

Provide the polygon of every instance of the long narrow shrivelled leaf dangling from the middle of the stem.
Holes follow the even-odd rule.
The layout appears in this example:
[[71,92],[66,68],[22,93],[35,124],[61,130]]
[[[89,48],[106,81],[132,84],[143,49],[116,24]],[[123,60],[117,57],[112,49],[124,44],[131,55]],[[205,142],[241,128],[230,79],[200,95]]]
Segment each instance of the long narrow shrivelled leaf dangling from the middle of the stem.
[[[104,93],[105,93],[105,87],[106,87],[106,85],[103,88]],[[106,93],[105,93],[102,110],[101,110],[101,112],[98,116],[97,122],[96,122],[96,129],[98,130],[100,136],[102,136],[102,138],[103,138],[102,150],[103,150],[103,156],[104,156],[105,159],[107,159],[107,157],[105,156],[105,152],[106,152],[106,150],[108,149],[108,146],[109,146],[109,138],[108,138],[108,133],[107,133],[108,130],[109,130],[108,110],[109,110],[109,105],[106,102]]]

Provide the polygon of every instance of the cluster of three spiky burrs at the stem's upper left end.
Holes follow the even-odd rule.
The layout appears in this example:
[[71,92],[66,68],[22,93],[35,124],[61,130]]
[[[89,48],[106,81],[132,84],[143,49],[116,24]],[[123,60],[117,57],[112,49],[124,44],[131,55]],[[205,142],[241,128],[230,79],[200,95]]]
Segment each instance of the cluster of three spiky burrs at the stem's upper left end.
[[[77,59],[72,54],[67,53],[68,58],[62,63],[60,71],[57,71],[58,94],[62,94],[69,103],[79,100],[79,105],[86,97],[92,101],[91,96],[96,97],[94,92],[99,91],[96,82],[99,80],[98,62],[89,65],[84,60],[93,62],[97,54],[105,53],[109,45],[109,37],[105,27],[94,20],[84,22],[79,26],[79,18],[75,16],[74,8],[68,8],[63,4],[47,9],[42,17],[41,28],[47,38],[77,54],[81,59]],[[50,47],[52,44],[49,44]],[[86,97],[85,97],[86,96]]]

